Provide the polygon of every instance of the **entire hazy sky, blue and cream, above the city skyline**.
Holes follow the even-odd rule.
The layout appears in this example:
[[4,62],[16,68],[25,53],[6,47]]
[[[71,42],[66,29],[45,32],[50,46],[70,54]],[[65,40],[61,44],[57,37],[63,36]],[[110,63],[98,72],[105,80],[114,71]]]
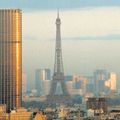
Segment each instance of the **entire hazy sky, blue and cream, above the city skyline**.
[[120,0],[1,0],[23,11],[23,71],[54,65],[55,19],[60,9],[66,74],[106,68],[120,76]]

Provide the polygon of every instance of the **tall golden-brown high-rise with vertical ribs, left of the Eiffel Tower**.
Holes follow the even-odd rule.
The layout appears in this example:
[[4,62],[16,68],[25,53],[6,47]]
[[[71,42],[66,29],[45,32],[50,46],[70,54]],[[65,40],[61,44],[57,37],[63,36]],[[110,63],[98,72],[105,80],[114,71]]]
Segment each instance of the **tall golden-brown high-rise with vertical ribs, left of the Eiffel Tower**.
[[21,107],[22,12],[0,9],[0,103],[7,111]]

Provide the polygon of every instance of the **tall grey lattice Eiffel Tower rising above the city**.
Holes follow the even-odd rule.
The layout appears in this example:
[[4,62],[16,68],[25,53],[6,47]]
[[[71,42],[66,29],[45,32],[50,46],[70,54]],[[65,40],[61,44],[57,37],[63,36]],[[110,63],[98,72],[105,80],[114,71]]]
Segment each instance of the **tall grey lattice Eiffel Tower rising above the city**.
[[[48,103],[71,103],[71,97],[68,93],[62,61],[62,48],[61,48],[61,20],[59,18],[59,11],[56,19],[56,47],[55,47],[55,64],[53,80],[50,88],[49,95],[47,96]],[[61,88],[61,94],[57,93],[57,88]]]

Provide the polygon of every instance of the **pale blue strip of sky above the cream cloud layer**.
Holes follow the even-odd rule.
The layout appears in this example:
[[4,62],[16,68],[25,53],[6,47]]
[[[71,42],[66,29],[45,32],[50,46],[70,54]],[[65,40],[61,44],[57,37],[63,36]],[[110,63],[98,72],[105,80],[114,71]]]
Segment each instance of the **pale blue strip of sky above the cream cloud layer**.
[[120,0],[0,0],[0,7],[57,9],[93,6],[120,6]]

